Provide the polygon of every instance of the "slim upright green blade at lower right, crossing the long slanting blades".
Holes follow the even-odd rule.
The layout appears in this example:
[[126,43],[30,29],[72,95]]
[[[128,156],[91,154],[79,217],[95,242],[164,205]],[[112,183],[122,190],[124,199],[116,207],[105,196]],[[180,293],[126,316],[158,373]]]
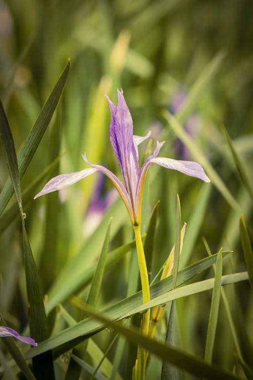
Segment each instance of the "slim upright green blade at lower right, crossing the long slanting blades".
[[219,251],[216,261],[216,271],[215,271],[215,283],[214,290],[208,320],[206,343],[205,343],[205,353],[204,360],[207,363],[212,363],[215,334],[217,328],[219,305],[221,297],[221,279],[222,279],[222,249]]

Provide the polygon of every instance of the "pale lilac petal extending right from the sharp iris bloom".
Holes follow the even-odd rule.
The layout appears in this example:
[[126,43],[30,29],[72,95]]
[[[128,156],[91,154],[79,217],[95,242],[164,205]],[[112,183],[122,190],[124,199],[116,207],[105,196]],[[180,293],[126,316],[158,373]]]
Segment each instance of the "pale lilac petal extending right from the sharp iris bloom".
[[204,169],[197,162],[193,161],[180,161],[164,157],[156,157],[150,160],[152,164],[158,164],[166,169],[177,170],[181,173],[187,174],[191,177],[199,178],[204,182],[210,182],[209,178],[204,172]]

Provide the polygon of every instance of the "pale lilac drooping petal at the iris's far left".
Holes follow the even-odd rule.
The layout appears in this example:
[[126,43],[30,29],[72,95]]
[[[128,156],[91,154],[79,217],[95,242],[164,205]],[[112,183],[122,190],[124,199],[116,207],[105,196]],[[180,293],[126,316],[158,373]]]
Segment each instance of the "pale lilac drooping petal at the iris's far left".
[[33,199],[36,199],[41,195],[52,193],[56,190],[61,190],[62,188],[68,187],[80,181],[82,178],[85,178],[88,175],[95,173],[96,171],[98,171],[98,169],[88,168],[80,170],[79,172],[57,175],[56,177],[52,178],[48,183],[46,183],[43,189],[37,195],[35,195]]

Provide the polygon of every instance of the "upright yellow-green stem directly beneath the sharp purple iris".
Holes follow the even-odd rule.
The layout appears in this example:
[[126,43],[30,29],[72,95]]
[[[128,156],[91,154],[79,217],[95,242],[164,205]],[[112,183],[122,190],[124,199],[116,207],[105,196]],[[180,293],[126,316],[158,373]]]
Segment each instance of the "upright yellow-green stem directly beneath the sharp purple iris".
[[[142,244],[140,225],[137,225],[137,226],[134,225],[134,231],[135,231],[136,250],[137,250],[138,262],[139,262],[139,270],[140,270],[140,276],[141,276],[142,297],[143,297],[143,303],[146,303],[150,300],[150,292],[149,292],[148,271],[147,271],[143,244]],[[150,309],[148,309],[142,315],[141,330],[144,335],[148,335],[149,318],[150,318]],[[136,375],[137,375],[138,380],[144,380],[147,353],[146,353],[146,350],[143,349],[142,347],[138,347],[137,358],[138,358],[138,363],[135,366],[135,370],[137,372]]]

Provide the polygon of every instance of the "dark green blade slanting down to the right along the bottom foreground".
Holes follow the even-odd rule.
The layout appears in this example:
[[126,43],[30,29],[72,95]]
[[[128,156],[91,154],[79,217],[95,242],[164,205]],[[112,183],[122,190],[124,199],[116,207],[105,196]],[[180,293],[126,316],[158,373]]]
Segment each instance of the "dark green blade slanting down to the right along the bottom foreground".
[[107,316],[97,313],[87,306],[85,313],[106,326],[113,328],[116,332],[125,336],[136,345],[141,345],[154,355],[159,356],[163,360],[166,360],[195,376],[212,380],[214,378],[220,380],[232,380],[237,378],[232,373],[230,374],[216,366],[210,366],[197,357],[186,354],[170,345],[164,345],[154,339],[150,339],[149,337],[142,335],[138,330],[127,328],[118,322],[114,322]]

